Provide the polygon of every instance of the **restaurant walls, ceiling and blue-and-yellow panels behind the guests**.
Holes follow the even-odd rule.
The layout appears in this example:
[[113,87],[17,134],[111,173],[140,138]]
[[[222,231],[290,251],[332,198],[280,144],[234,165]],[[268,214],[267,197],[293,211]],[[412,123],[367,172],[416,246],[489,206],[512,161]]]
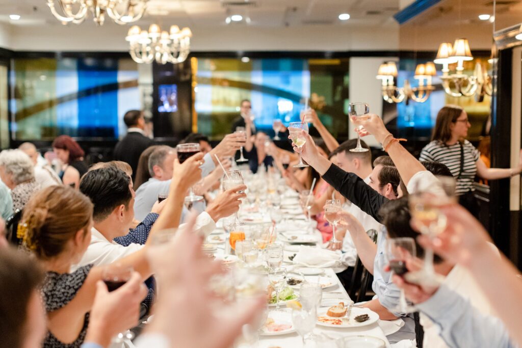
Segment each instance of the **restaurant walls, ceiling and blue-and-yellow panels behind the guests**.
[[[106,18],[97,26],[92,16],[63,25],[44,0],[0,0],[0,145],[48,147],[68,134],[90,160],[108,160],[130,109],[145,110],[159,142],[175,145],[191,131],[218,140],[243,99],[252,100],[256,127],[273,135],[274,119],[298,119],[310,98],[340,141],[354,136],[347,105],[364,101],[418,154],[437,111],[451,103],[469,114],[469,140],[478,145],[490,134],[492,166],[507,167],[520,149],[521,18],[519,0],[150,0],[131,25]],[[133,61],[127,31],[153,23],[191,29],[184,62]],[[417,65],[458,38],[468,39],[473,55],[464,74],[480,65],[492,78],[490,93],[448,95],[436,65],[428,100],[385,101],[375,78],[384,62],[396,62],[394,86],[408,80],[416,88]],[[480,186],[477,195],[482,222],[520,267],[520,180]]]

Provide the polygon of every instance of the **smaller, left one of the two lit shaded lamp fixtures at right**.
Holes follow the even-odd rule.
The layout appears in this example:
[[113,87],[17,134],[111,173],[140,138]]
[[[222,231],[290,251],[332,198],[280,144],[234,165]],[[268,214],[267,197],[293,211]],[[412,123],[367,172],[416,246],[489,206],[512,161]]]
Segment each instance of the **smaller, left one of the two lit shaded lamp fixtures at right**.
[[432,76],[436,75],[435,64],[428,62],[419,64],[415,69],[414,79],[419,80],[418,87],[411,87],[408,80],[404,81],[404,87],[395,86],[397,77],[397,65],[395,62],[387,62],[379,66],[377,79],[382,81],[383,99],[388,103],[400,103],[411,99],[418,103],[423,103],[430,97],[435,87],[432,86]]

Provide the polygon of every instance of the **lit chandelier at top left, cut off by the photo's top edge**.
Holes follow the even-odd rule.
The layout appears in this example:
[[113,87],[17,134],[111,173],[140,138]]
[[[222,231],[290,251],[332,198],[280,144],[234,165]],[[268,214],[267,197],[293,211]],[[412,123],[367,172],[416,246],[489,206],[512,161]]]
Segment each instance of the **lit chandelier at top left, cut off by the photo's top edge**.
[[[149,0],[47,0],[51,13],[62,23],[79,24],[87,18],[89,11],[94,22],[103,25],[105,14],[116,23],[125,25],[143,16]],[[60,13],[55,7],[60,7]]]

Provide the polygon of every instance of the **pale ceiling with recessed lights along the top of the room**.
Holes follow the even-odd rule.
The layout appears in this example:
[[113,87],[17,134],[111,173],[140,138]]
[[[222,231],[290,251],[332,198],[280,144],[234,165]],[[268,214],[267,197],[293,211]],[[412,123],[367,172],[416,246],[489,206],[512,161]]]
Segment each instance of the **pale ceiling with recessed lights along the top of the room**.
[[[138,24],[155,21],[164,26],[176,23],[191,29],[208,28],[226,26],[227,16],[240,14],[250,18],[249,26],[259,28],[362,24],[381,27],[394,22],[392,16],[398,11],[398,3],[399,0],[150,0],[147,13]],[[349,13],[350,20],[339,20],[341,13]],[[18,14],[21,19],[10,20],[10,14]],[[14,26],[61,25],[45,0],[0,0],[0,21]],[[86,22],[94,26],[92,20]],[[105,22],[109,24],[109,20]]]

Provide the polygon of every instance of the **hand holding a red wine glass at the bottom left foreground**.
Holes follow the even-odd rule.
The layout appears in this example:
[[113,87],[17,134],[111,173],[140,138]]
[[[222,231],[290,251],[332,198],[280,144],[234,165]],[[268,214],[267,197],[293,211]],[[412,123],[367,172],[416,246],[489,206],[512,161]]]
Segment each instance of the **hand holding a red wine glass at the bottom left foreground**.
[[109,292],[101,280],[98,281],[85,342],[108,346],[118,332],[136,326],[139,304],[146,295],[147,287],[138,272],[113,292]]

